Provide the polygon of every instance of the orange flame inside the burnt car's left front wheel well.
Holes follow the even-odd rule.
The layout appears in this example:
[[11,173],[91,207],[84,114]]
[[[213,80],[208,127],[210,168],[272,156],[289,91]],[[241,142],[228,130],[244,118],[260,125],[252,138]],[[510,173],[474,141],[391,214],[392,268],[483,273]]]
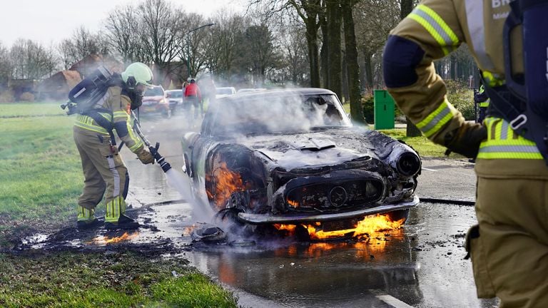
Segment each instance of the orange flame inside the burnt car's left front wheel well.
[[208,197],[215,200],[215,205],[219,208],[225,206],[226,201],[235,191],[243,191],[244,185],[239,173],[235,173],[226,167],[225,162],[220,163],[220,167],[213,171],[213,175],[207,177],[207,180],[215,178],[215,191],[207,190]]

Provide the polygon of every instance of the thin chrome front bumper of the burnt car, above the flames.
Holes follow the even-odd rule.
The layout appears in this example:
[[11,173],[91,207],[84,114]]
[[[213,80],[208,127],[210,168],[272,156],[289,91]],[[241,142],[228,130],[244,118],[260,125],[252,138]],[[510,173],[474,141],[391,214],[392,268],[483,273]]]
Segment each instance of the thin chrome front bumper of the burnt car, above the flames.
[[413,196],[413,200],[402,201],[398,203],[391,203],[387,205],[379,205],[377,207],[370,207],[362,210],[355,210],[352,212],[341,212],[335,214],[324,215],[300,215],[300,216],[270,216],[264,214],[249,214],[240,212],[238,219],[242,222],[246,222],[252,225],[263,224],[296,224],[301,222],[327,222],[334,220],[345,220],[355,217],[363,217],[367,215],[378,214],[381,212],[392,212],[393,210],[407,210],[411,207],[415,207],[419,204],[419,197]]

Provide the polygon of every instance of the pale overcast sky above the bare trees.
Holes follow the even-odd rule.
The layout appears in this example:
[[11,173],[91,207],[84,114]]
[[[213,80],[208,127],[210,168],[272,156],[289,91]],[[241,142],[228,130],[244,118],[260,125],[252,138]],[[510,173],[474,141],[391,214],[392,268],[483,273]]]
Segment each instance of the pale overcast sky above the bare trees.
[[[215,11],[243,11],[243,0],[168,0],[187,12],[210,16]],[[0,43],[11,47],[16,39],[31,39],[44,46],[68,39],[80,26],[96,32],[116,6],[139,0],[2,0]]]

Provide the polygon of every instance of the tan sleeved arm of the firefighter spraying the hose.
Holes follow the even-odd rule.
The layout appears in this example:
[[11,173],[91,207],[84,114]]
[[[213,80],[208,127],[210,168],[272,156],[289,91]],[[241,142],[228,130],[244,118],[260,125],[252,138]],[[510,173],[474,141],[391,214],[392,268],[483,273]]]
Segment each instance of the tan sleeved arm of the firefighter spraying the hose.
[[131,128],[131,118],[129,116],[131,101],[127,96],[120,96],[117,106],[113,108],[113,117],[114,117],[114,128],[118,137],[126,143],[126,146],[133,153],[140,153],[143,148],[143,140],[138,138],[138,136],[133,133],[133,128]]

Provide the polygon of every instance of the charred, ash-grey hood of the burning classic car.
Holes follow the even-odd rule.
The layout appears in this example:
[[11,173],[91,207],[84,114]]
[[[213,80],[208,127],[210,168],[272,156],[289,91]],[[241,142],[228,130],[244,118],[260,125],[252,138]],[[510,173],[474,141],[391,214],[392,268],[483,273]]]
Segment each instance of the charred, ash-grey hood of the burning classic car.
[[397,142],[374,130],[340,128],[310,133],[258,135],[238,139],[285,170],[383,159]]

